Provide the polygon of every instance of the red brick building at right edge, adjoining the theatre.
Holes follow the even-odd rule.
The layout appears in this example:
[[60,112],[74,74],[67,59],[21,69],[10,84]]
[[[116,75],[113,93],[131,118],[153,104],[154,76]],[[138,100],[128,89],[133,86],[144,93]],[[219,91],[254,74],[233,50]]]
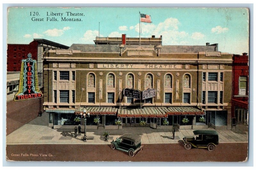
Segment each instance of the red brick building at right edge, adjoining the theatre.
[[248,94],[249,94],[249,65],[248,55],[233,56],[232,84],[232,124],[248,125]]

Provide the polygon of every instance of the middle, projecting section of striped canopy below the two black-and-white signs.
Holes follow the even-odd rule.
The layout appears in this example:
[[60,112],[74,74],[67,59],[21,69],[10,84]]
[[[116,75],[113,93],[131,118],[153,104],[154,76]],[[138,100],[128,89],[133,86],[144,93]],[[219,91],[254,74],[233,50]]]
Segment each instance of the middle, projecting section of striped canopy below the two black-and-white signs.
[[127,108],[118,110],[117,117],[167,117],[162,107]]

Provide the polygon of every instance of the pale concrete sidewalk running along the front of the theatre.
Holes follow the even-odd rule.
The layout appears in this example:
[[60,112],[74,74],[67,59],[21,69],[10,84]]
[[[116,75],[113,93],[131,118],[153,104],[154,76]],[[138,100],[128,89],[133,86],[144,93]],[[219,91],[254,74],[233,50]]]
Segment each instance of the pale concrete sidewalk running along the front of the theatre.
[[[45,113],[44,113],[45,114]],[[43,115],[44,116],[44,115]],[[40,117],[39,117],[40,118]],[[45,125],[38,125],[36,119],[28,124],[24,124],[19,129],[13,131],[6,137],[7,145],[18,144],[109,144],[112,139],[116,139],[124,133],[134,133],[141,136],[142,144],[165,144],[178,143],[184,137],[193,137],[193,129],[178,130],[175,138],[172,139],[172,129],[151,129],[149,127],[123,127],[120,130],[104,130],[99,127],[97,130],[87,130],[88,140],[82,139],[84,133],[75,137],[74,132],[63,133]],[[219,133],[220,143],[246,143],[248,141],[248,131],[241,131],[243,125],[238,125],[236,130],[216,130]],[[83,131],[83,130],[82,130]],[[102,134],[109,131],[108,141],[105,141]]]

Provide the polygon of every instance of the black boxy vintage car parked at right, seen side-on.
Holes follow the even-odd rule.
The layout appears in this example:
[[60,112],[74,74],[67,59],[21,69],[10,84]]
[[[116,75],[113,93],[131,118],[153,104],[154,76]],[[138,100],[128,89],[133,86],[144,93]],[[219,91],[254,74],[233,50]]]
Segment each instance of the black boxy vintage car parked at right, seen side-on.
[[207,148],[212,152],[219,144],[218,133],[214,130],[196,130],[193,138],[183,138],[185,149],[189,150],[192,146],[196,148]]

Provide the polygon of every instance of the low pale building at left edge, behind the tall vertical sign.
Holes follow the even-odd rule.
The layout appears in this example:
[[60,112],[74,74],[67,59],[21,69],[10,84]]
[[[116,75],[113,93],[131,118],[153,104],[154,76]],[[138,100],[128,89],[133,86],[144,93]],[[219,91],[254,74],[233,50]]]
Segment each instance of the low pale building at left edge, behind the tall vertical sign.
[[7,102],[13,100],[15,93],[19,91],[20,72],[7,72],[6,77],[6,95]]

